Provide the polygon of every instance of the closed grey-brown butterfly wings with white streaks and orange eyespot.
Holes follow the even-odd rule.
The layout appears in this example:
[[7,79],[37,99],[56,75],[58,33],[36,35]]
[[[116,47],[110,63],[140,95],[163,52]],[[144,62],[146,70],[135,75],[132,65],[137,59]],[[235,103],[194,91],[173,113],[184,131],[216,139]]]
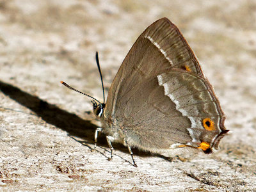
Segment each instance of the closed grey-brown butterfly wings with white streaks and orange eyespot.
[[[193,78],[197,80],[190,82]],[[198,93],[195,85],[200,87]],[[204,93],[211,97],[204,98]],[[109,129],[121,130],[130,145],[152,152],[200,147],[202,141],[217,148],[225,132],[224,119],[195,54],[166,18],[154,22],[136,40],[111,84],[104,110]],[[211,133],[207,125],[215,127]]]

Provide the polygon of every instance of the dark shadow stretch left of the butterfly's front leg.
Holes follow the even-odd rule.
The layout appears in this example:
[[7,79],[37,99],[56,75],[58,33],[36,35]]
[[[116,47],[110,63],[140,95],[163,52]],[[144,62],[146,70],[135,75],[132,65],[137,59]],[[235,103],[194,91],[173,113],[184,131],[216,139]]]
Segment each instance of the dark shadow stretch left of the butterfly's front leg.
[[53,104],[49,104],[3,81],[0,81],[0,90],[4,95],[19,102],[22,106],[31,109],[31,111],[35,112],[37,116],[40,116],[47,124],[52,124],[63,131],[67,131],[70,136],[86,138],[88,143],[94,143],[94,131],[97,127],[90,121],[83,120],[75,114],[68,113]]

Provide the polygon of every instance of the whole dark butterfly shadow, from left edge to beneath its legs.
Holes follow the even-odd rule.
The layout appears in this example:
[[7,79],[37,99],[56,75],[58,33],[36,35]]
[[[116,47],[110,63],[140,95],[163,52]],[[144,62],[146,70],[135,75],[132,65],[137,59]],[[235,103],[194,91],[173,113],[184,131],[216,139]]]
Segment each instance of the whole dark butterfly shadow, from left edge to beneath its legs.
[[[0,81],[0,90],[4,93],[4,95],[10,97],[10,99],[15,100],[20,105],[33,111],[36,116],[42,118],[42,120],[44,120],[47,124],[54,125],[55,127],[66,131],[68,136],[81,143],[82,145],[90,148],[90,150],[94,150],[94,148],[90,147],[88,144],[94,144],[94,133],[97,126],[92,124],[90,120],[84,120],[83,118],[73,113],[69,113],[63,109],[58,108],[58,106],[55,106],[54,104],[49,104],[49,102],[46,102],[45,100],[42,100],[35,95],[24,92],[12,84]],[[33,115],[33,113],[31,113],[31,115]],[[106,152],[110,152],[110,150],[106,149],[108,148],[108,143],[106,142],[106,138],[104,138],[103,134],[100,134],[98,138],[97,147],[104,148]],[[123,145],[114,143],[113,147],[115,150],[120,150],[129,154],[129,151]],[[147,152],[141,152],[137,149],[132,149],[132,152],[139,156],[151,156],[151,154]],[[108,153],[105,155],[100,152],[100,154],[108,158]],[[114,156],[116,156],[115,152]]]

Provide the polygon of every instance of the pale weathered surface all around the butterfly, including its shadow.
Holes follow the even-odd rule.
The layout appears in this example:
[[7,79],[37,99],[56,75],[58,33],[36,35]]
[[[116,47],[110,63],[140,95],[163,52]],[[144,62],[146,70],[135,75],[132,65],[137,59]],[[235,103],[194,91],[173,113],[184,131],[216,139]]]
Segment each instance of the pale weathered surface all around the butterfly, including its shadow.
[[[140,3],[138,3],[140,2]],[[193,2],[193,3],[192,3]],[[256,183],[255,1],[0,1],[0,190],[252,191]],[[214,85],[231,133],[182,162],[93,148],[90,99],[102,98],[149,24],[172,20]],[[76,114],[76,115],[75,115]]]

